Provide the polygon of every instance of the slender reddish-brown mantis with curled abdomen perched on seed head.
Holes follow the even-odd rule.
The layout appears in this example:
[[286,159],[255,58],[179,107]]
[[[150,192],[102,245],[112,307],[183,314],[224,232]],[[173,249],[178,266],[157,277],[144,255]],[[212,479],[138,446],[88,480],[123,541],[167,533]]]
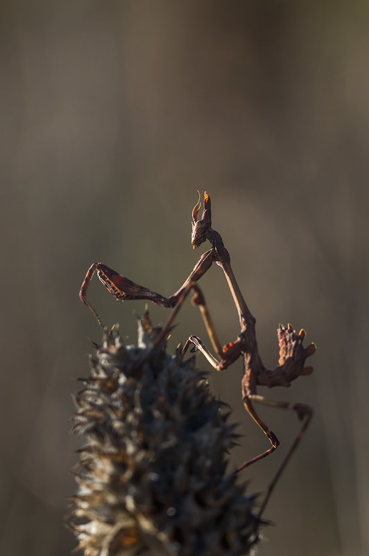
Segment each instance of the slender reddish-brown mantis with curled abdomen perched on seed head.
[[[279,445],[277,436],[272,432],[272,430],[261,420],[259,414],[254,408],[253,402],[259,402],[261,404],[266,404],[273,407],[279,407],[282,409],[289,409],[295,411],[299,420],[302,421],[302,426],[298,436],[291,445],[289,452],[287,452],[286,457],[282,461],[280,468],[278,469],[273,481],[268,487],[264,501],[261,504],[259,510],[259,517],[263,514],[266,504],[271,497],[271,493],[275,488],[275,484],[280,478],[282,471],[286,467],[289,459],[293,455],[293,452],[300,443],[304,432],[307,430],[312,417],[312,409],[308,405],[296,403],[291,404],[289,402],[281,402],[276,400],[267,400],[263,396],[257,394],[257,386],[268,386],[271,388],[273,386],[290,386],[291,382],[301,375],[309,375],[312,372],[311,367],[304,367],[305,360],[316,350],[314,343],[311,343],[307,347],[303,347],[302,341],[305,337],[304,329],[296,334],[291,325],[284,327],[280,325],[277,334],[278,341],[280,345],[280,359],[278,365],[274,370],[268,370],[261,361],[259,351],[257,348],[257,339],[255,334],[255,317],[252,316],[248,306],[243,299],[243,295],[237,284],[237,280],[234,277],[232,267],[230,264],[230,255],[228,250],[225,249],[221,235],[217,231],[212,229],[212,213],[210,206],[210,197],[205,192],[204,199],[204,210],[203,215],[200,220],[197,220],[198,212],[200,210],[200,193],[199,199],[192,211],[192,234],[191,243],[196,249],[200,247],[202,243],[209,240],[212,247],[203,255],[200,256],[198,262],[194,266],[191,274],[184,281],[184,284],[180,286],[178,291],[173,293],[170,297],[164,297],[160,293],[145,288],[144,286],[139,286],[135,282],[130,281],[128,278],[115,272],[103,263],[94,263],[89,267],[85,280],[80,288],[80,299],[91,309],[91,311],[96,316],[99,324],[103,326],[101,318],[96,313],[95,309],[87,301],[86,292],[89,286],[89,282],[94,275],[96,270],[98,278],[100,281],[108,288],[110,293],[116,297],[117,300],[150,300],[153,303],[173,308],[171,317],[162,329],[160,336],[157,338],[156,344],[158,345],[166,336],[171,327],[175,316],[177,315],[180,307],[182,306],[185,298],[190,291],[194,290],[194,298],[192,302],[194,305],[198,306],[203,316],[205,322],[205,327],[209,335],[212,347],[216,352],[217,357],[214,357],[203,342],[197,336],[189,336],[189,339],[184,344],[182,355],[187,352],[190,345],[193,345],[193,349],[200,351],[206,357],[207,361],[216,370],[224,370],[230,366],[234,361],[243,357],[244,373],[242,378],[242,399],[246,410],[250,416],[255,420],[257,425],[264,431],[266,436],[271,443],[271,447],[261,454],[253,457],[249,461],[243,463],[237,471],[241,471],[250,464],[263,459],[267,455],[274,452],[274,450]],[[205,272],[209,270],[212,263],[216,262],[223,270],[225,278],[228,281],[228,286],[232,293],[234,304],[236,305],[237,312],[239,314],[240,322],[240,333],[234,342],[228,343],[227,345],[221,346],[218,336],[214,329],[212,319],[210,318],[209,311],[207,310],[207,305],[205,304],[205,299],[203,293],[197,285],[198,280],[205,275]]]

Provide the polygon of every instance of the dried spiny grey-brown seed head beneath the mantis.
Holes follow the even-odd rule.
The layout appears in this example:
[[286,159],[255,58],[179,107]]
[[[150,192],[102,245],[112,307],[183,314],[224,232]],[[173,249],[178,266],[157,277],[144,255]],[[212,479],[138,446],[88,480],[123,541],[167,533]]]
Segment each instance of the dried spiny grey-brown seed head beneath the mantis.
[[74,398],[85,439],[71,527],[85,556],[237,556],[257,541],[255,496],[226,473],[234,426],[194,359],[155,347],[146,313],[138,345],[117,327],[91,356]]

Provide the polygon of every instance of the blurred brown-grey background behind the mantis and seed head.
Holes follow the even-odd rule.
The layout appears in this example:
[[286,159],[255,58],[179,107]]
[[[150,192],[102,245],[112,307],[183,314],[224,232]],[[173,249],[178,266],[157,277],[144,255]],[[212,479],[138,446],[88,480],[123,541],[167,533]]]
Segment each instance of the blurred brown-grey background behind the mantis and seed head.
[[[189,240],[197,189],[212,197],[264,363],[275,365],[279,322],[318,346],[311,377],[265,392],[315,417],[259,554],[368,554],[369,4],[19,0],[0,14],[1,554],[75,546],[63,523],[79,445],[70,394],[88,372],[88,338],[101,340],[80,284],[103,261],[173,293],[205,250]],[[201,285],[232,341],[221,270]],[[144,302],[116,302],[97,279],[88,295],[135,342]],[[171,346],[191,333],[208,343],[188,303]],[[232,466],[268,447],[241,376],[241,361],[212,375],[243,435]],[[262,493],[298,423],[261,415],[281,441],[243,473]]]

